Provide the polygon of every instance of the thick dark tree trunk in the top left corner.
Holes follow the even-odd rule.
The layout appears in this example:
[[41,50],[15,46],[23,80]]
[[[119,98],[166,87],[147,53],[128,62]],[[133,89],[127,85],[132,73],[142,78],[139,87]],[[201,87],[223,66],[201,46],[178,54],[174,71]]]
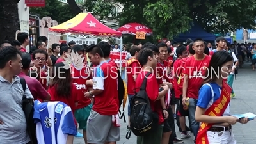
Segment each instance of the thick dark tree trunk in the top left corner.
[[19,0],[0,0],[0,42],[15,40],[15,33],[20,29]]

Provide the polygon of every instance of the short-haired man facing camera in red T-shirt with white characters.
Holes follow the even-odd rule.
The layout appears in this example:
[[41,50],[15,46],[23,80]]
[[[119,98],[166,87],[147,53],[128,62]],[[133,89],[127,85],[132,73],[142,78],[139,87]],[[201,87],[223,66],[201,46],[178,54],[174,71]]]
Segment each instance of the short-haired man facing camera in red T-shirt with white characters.
[[204,41],[196,39],[193,42],[193,49],[195,55],[188,58],[184,65],[184,82],[182,90],[182,104],[186,106],[186,99],[189,97],[189,118],[191,121],[191,128],[196,138],[199,130],[199,122],[195,120],[195,110],[198,100],[198,91],[202,82],[204,81],[205,71],[211,60],[211,56],[204,54]]

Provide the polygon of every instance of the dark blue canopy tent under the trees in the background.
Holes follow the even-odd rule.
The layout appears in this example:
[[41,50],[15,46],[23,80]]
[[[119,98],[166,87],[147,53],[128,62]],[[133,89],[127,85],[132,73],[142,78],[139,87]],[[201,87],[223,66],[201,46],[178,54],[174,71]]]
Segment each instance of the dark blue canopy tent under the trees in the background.
[[204,31],[204,29],[202,29],[198,24],[194,22],[194,25],[189,31],[186,31],[185,33],[180,33],[180,35],[174,38],[173,41],[186,42],[188,38],[191,38],[192,40],[195,40],[196,38],[202,38],[205,41],[214,41],[216,36],[214,34],[207,33],[206,31]]

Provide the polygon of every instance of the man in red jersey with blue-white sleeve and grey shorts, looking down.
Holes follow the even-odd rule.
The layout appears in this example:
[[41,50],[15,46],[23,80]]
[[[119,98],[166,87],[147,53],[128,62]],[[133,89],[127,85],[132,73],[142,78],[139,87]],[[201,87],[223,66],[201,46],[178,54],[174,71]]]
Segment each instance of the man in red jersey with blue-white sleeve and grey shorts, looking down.
[[[88,58],[97,67],[93,70],[93,90],[84,93],[85,97],[94,97],[94,104],[87,121],[88,143],[116,143],[120,140],[118,122],[118,72],[111,68],[97,45],[90,45]],[[95,133],[97,132],[97,133]]]

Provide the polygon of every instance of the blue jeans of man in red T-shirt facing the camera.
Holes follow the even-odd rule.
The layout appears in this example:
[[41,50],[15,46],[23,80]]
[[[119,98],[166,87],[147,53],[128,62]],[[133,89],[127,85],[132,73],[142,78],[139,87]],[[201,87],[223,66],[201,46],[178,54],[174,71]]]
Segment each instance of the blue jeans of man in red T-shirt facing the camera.
[[193,131],[193,134],[196,138],[198,131],[199,131],[199,122],[196,122],[195,119],[195,113],[196,113],[196,104],[198,99],[189,99],[189,106],[188,106],[188,112],[189,112],[189,118],[190,118],[190,124]]

